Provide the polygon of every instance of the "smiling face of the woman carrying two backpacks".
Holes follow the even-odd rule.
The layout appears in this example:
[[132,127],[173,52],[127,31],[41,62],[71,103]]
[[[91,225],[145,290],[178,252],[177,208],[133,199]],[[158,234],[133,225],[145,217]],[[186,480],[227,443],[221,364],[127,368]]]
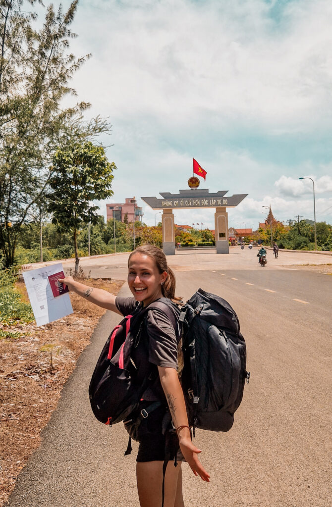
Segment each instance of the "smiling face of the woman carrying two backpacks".
[[134,253],[128,267],[128,285],[137,301],[144,306],[162,297],[161,282],[167,278],[167,272],[159,273],[154,260],[144,253]]

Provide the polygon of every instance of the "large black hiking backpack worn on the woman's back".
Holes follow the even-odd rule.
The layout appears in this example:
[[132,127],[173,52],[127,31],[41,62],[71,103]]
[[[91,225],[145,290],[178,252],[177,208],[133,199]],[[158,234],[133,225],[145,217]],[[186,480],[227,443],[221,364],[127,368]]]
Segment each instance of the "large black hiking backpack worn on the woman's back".
[[250,378],[239,319],[227,301],[201,288],[181,310],[181,383],[189,425],[228,431]]

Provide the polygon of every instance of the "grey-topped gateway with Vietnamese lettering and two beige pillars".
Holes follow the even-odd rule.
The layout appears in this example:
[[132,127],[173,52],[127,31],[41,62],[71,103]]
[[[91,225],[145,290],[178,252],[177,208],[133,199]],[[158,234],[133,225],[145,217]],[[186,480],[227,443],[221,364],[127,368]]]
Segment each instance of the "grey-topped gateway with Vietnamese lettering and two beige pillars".
[[226,208],[235,208],[248,194],[225,197],[228,190],[210,194],[208,189],[180,190],[179,194],[161,193],[157,197],[141,197],[152,209],[162,209],[162,250],[165,255],[175,255],[173,209],[216,208],[214,214],[216,253],[228,253],[228,213]]

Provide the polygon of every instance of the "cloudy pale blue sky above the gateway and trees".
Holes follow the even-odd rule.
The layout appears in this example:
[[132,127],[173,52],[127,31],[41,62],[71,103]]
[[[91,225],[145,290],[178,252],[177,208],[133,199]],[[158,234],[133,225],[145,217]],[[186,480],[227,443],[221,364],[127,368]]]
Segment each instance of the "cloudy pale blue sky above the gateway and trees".
[[[248,194],[229,226],[256,229],[270,204],[277,220],[313,220],[302,176],[332,224],[331,22],[330,0],[81,0],[71,50],[92,57],[71,84],[87,117],[109,118],[117,166],[101,214],[135,196],[154,225],[141,196],[187,189],[194,157],[200,188]],[[213,229],[214,212],[175,222]]]

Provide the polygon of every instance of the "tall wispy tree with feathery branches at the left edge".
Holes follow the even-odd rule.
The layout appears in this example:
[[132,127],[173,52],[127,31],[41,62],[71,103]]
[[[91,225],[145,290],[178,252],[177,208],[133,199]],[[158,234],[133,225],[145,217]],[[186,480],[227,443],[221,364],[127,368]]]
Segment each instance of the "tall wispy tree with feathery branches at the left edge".
[[34,4],[0,0],[0,251],[7,267],[22,224],[42,212],[56,147],[109,129],[100,118],[82,121],[88,103],[60,107],[65,95],[75,95],[68,83],[90,56],[68,50],[78,0],[65,13],[48,6],[39,30],[28,12]]

